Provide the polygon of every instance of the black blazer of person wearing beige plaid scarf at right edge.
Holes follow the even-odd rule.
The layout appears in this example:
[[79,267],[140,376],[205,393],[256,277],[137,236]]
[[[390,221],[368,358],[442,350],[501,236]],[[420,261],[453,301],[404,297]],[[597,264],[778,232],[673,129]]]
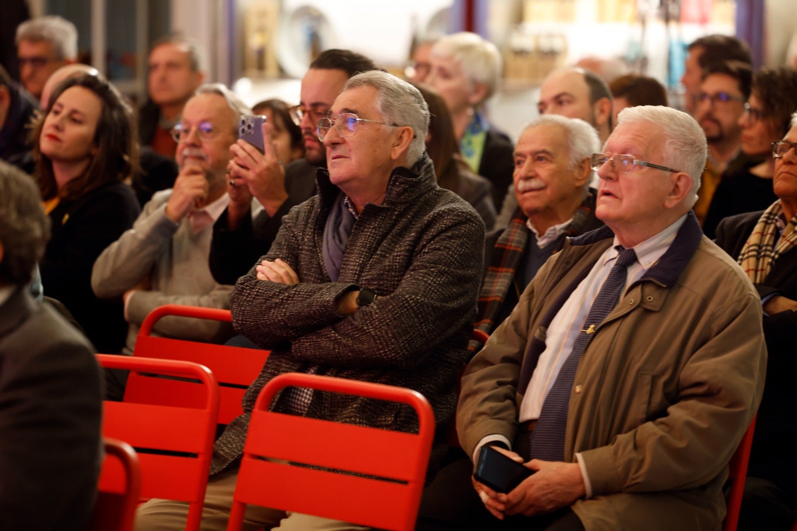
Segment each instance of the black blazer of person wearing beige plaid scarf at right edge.
[[[717,226],[717,245],[732,258],[739,258],[744,242],[752,233],[762,211],[724,218]],[[777,293],[797,301],[797,249],[778,258],[764,282],[756,285],[761,297]],[[769,479],[797,496],[795,440],[797,440],[797,313],[785,311],[764,317],[767,340],[767,379],[758,410],[756,435],[748,475]]]

